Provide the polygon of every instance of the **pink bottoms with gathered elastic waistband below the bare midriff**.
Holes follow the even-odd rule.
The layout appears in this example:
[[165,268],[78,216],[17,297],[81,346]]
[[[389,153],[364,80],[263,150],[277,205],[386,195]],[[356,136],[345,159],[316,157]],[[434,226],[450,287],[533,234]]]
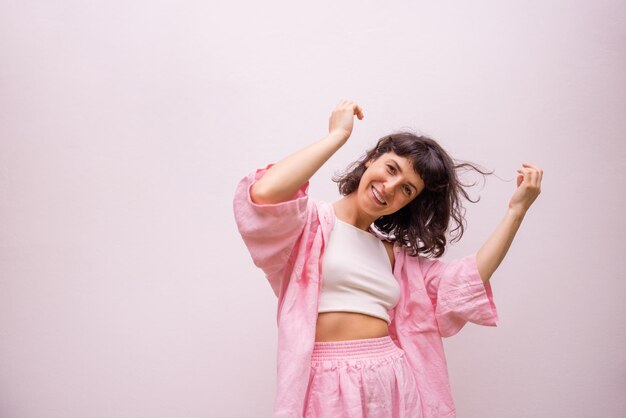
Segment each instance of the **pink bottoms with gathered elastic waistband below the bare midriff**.
[[389,336],[315,343],[305,418],[421,416],[413,373]]

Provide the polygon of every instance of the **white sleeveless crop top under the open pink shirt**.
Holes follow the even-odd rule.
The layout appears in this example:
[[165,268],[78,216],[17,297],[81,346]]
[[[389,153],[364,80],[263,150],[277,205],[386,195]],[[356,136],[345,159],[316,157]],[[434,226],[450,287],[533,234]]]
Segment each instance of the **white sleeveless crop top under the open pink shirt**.
[[400,299],[385,245],[376,236],[335,218],[322,256],[318,312],[358,312],[384,319]]

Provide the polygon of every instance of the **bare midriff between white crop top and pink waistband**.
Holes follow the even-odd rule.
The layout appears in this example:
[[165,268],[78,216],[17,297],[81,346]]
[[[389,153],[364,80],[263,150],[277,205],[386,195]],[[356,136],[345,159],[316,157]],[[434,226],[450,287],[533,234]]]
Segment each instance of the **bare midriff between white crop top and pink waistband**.
[[347,341],[389,335],[383,319],[355,312],[322,312],[317,316],[315,341]]

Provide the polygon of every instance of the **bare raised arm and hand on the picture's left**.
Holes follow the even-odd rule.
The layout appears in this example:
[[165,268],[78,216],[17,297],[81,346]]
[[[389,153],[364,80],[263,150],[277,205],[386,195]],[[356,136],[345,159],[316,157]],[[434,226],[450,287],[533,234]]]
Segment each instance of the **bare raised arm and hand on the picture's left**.
[[279,203],[290,199],[352,134],[354,116],[363,119],[363,109],[342,100],[328,122],[328,136],[274,164],[252,187],[255,203]]

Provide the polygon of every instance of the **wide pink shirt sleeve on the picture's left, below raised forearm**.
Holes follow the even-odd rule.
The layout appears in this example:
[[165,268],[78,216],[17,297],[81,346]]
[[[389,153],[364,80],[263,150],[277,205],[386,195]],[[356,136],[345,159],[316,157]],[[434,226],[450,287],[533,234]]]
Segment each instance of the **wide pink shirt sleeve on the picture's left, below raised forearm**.
[[254,264],[263,270],[278,296],[289,256],[307,221],[308,182],[290,200],[275,204],[254,203],[250,195],[251,187],[270,167],[256,170],[239,182],[233,211],[237,228]]

